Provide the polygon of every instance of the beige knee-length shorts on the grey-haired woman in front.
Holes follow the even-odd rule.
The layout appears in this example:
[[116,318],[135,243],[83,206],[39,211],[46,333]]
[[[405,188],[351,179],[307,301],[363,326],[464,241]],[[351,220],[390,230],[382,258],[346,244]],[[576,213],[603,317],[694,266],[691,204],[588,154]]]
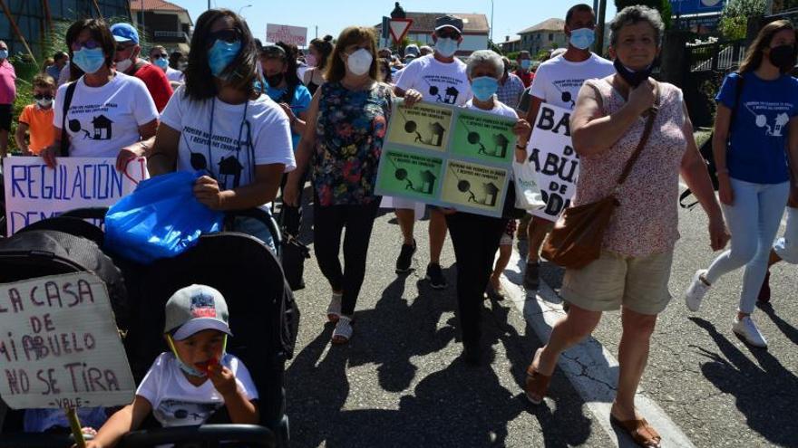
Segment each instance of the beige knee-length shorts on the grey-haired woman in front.
[[673,251],[645,257],[601,251],[595,262],[565,271],[560,294],[585,310],[618,310],[623,305],[641,314],[659,314],[671,300],[667,281],[672,262]]

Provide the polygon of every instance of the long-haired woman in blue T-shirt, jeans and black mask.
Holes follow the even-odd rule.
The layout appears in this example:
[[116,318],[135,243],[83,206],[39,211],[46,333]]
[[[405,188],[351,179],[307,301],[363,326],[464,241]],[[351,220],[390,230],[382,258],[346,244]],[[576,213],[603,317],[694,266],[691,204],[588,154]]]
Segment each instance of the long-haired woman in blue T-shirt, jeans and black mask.
[[740,72],[725,78],[715,98],[713,154],[731,249],[696,272],[685,300],[689,310],[697,311],[715,281],[745,266],[732,330],[764,348],[767,341],[751,314],[787,199],[798,197],[798,80],[790,76],[796,56],[793,24],[766,24],[745,54]]

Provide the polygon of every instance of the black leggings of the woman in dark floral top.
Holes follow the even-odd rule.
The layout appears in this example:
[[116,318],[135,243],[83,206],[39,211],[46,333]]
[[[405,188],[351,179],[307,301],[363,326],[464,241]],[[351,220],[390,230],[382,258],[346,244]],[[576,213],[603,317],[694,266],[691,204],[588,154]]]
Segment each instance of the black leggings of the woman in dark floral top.
[[[369,205],[319,205],[313,202],[313,245],[316,261],[333,291],[344,291],[341,314],[351,317],[355,313],[357,295],[365,277],[365,256],[371,240],[380,198]],[[344,268],[338,259],[341,250],[341,233],[344,236]]]

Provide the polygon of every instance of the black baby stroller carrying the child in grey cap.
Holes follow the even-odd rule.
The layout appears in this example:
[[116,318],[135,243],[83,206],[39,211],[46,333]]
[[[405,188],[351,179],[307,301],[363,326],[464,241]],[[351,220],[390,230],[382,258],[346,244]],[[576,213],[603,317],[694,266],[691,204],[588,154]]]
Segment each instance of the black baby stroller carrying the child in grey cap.
[[[127,434],[120,446],[151,446],[174,442],[196,442],[205,444],[191,446],[212,446],[212,443],[218,441],[238,441],[251,446],[287,446],[284,371],[287,359],[293,356],[299,311],[275,255],[254,237],[223,232],[201,236],[196,246],[175,258],[141,265],[115,256],[107,248],[102,252],[97,250],[98,246],[102,247],[102,231],[80,218],[97,218],[104,215],[104,211],[100,214],[101,210],[83,210],[44,220],[0,242],[0,271],[5,274],[6,248],[16,248],[19,253],[18,246],[23,244],[21,241],[31,238],[29,234],[56,234],[59,238],[65,235],[82,240],[85,245],[93,245],[94,251],[88,258],[109,263],[112,261],[111,264],[122,273],[120,279],[124,279],[122,289],[126,292],[126,297],[120,300],[123,305],[118,305],[120,311],[117,311],[117,305],[113,308],[117,312],[120,329],[126,331],[123,343],[137,383],[141,382],[155,357],[168,350],[162,332],[163,307],[170,295],[191,283],[203,283],[218,289],[228,302],[230,328],[235,335],[230,338],[228,349],[247,365],[252,375],[258,388],[261,424],[265,426],[232,424],[148,428]],[[258,211],[248,211],[246,215],[258,219],[270,218],[270,215],[258,214]],[[35,248],[33,246],[29,249]],[[66,253],[67,257],[71,254],[69,251]],[[17,255],[15,261],[18,262],[20,258],[25,257]],[[85,268],[75,266],[76,271],[92,270],[91,266]],[[27,277],[4,276],[0,279],[15,281],[44,275],[39,269],[17,271],[27,272]],[[14,424],[15,420],[18,421],[14,418],[10,421],[6,419],[4,433],[9,432],[8,424]],[[0,437],[0,447],[69,444],[64,444],[64,440],[61,444],[36,443],[33,435],[20,434],[15,437],[12,434],[3,434]]]

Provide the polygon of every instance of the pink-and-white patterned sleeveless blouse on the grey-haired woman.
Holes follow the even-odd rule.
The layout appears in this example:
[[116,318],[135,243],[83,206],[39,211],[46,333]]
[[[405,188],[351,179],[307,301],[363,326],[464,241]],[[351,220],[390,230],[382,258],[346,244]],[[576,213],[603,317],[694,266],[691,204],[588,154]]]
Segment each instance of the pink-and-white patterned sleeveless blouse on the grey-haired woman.
[[[599,91],[603,115],[620,110],[626,100],[608,79],[585,81]],[[682,91],[659,82],[659,112],[645,148],[626,182],[618,188],[620,206],[610,219],[603,248],[631,257],[673,250],[678,232],[679,169],[686,151]],[[637,148],[647,117],[601,154],[581,157],[573,205],[598,201],[612,193],[627,160]]]

